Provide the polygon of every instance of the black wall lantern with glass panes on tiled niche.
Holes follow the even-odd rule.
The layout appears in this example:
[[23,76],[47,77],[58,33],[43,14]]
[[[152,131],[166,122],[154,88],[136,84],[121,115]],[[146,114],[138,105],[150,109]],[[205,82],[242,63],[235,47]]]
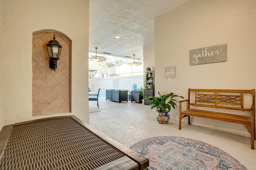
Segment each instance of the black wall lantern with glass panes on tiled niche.
[[53,40],[50,40],[47,45],[47,51],[49,54],[49,67],[55,71],[57,68],[57,60],[60,59],[61,45],[55,40],[55,35],[53,35]]

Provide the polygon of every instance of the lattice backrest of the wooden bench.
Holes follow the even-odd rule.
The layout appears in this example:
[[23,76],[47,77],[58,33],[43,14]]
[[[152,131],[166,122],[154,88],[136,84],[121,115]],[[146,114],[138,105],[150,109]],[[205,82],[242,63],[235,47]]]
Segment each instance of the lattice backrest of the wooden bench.
[[[252,103],[255,104],[255,90],[218,90],[218,89],[188,89],[188,98],[190,92],[194,92],[194,103],[189,106],[213,107],[222,109],[232,109],[241,111],[250,111],[250,108],[244,108],[244,93],[252,94]],[[189,107],[188,106],[188,107]]]

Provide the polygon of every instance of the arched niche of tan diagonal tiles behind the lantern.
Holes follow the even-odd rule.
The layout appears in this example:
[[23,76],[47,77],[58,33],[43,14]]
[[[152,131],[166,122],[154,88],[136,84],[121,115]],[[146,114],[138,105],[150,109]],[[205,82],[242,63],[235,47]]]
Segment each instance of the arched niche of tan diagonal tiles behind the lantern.
[[[57,68],[49,68],[46,44],[53,39],[62,46]],[[32,40],[32,116],[70,113],[71,40],[56,30],[40,30]]]

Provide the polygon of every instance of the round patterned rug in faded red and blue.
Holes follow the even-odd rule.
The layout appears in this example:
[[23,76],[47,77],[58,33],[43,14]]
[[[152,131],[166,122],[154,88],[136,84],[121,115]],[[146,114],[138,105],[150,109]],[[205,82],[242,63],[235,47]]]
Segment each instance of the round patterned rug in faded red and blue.
[[247,170],[223,150],[184,137],[152,137],[130,149],[149,159],[150,170]]

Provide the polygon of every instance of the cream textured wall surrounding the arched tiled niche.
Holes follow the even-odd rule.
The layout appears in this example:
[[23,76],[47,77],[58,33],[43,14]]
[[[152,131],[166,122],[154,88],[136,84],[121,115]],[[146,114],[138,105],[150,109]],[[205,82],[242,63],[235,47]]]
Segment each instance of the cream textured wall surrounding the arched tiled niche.
[[32,119],[32,33],[43,29],[72,40],[72,114],[88,122],[89,0],[4,2],[4,124]]

